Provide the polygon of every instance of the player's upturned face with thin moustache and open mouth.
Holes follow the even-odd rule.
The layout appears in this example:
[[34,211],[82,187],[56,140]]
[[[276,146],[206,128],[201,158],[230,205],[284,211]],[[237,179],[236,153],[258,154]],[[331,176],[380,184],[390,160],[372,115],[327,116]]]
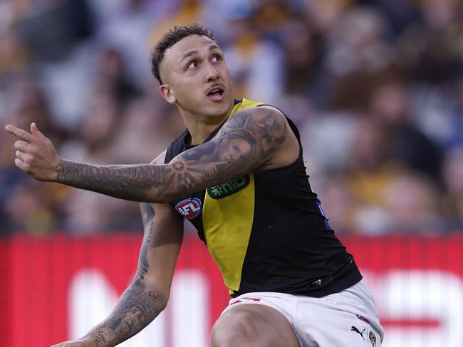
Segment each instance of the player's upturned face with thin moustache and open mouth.
[[172,97],[163,95],[182,110],[206,116],[231,110],[230,70],[222,50],[207,36],[190,35],[167,49],[160,73]]

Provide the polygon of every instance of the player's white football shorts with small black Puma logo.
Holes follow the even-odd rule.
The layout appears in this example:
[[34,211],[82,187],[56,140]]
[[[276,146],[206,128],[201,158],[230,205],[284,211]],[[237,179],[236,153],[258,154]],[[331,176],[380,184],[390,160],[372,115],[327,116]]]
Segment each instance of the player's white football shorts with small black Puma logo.
[[231,299],[230,307],[260,304],[288,319],[301,347],[380,347],[384,331],[375,302],[362,281],[342,292],[314,298],[276,292],[246,293]]

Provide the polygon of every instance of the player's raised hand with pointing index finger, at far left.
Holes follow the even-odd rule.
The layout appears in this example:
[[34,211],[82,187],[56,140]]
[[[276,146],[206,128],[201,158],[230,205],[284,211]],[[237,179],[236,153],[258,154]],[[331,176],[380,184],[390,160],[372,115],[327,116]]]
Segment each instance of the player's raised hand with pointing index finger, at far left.
[[30,133],[13,125],[7,125],[5,130],[19,138],[14,143],[14,164],[19,169],[38,181],[56,181],[56,170],[62,159],[51,141],[38,131],[36,123],[31,124]]

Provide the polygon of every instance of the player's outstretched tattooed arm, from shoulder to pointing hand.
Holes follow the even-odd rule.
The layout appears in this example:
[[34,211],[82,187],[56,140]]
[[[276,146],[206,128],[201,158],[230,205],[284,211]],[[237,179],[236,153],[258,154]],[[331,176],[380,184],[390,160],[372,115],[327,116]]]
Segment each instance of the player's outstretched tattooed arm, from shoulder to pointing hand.
[[45,160],[42,157],[54,148],[38,129],[31,127],[32,134],[7,130],[25,141],[15,144],[16,166],[35,178],[150,203],[167,203],[251,171],[283,166],[298,154],[298,142],[283,114],[267,107],[237,112],[212,140],[162,165],[96,166],[66,161],[57,154]]

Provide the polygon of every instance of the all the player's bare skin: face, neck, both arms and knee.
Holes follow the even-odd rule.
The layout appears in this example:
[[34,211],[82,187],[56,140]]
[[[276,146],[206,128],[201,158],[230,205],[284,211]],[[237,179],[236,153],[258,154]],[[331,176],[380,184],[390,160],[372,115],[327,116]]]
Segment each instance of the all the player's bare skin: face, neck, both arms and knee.
[[[177,106],[192,144],[199,144],[169,164],[164,164],[165,153],[151,164],[75,163],[58,156],[35,123],[31,124],[31,132],[6,126],[7,132],[19,138],[14,144],[16,166],[38,181],[142,201],[145,233],[132,284],[105,321],[83,338],[53,347],[115,346],[147,326],[165,308],[183,235],[182,218],[170,201],[250,172],[286,166],[298,157],[298,141],[278,110],[251,107],[227,119],[234,105],[231,75],[222,50],[211,39],[191,35],[175,43],[166,51],[160,73],[165,82],[160,86],[162,97]],[[207,95],[214,87],[223,90],[222,97]],[[202,144],[221,125],[216,136]],[[236,324],[238,317],[242,324]],[[269,331],[277,331],[281,339],[271,338],[274,335]],[[247,338],[245,344],[242,336]],[[212,346],[299,344],[279,312],[263,305],[243,305],[230,309],[217,321]]]

